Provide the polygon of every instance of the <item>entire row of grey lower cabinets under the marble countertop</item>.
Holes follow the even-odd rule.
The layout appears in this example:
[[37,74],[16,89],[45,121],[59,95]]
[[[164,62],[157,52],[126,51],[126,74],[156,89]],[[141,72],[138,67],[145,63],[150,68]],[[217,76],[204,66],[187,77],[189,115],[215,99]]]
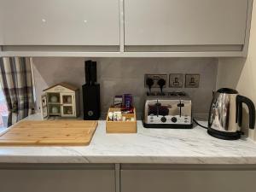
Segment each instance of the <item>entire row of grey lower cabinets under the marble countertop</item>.
[[0,192],[255,192],[256,166],[1,165]]

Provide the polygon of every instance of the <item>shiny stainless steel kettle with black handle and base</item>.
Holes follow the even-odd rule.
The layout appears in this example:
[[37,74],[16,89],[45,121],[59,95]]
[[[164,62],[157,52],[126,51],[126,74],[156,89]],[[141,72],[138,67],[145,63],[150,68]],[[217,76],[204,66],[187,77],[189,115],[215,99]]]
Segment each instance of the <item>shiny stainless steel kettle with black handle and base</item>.
[[249,128],[254,129],[255,107],[246,96],[238,95],[237,90],[223,88],[216,91],[208,119],[207,132],[212,137],[236,140],[241,137],[242,103],[249,109]]

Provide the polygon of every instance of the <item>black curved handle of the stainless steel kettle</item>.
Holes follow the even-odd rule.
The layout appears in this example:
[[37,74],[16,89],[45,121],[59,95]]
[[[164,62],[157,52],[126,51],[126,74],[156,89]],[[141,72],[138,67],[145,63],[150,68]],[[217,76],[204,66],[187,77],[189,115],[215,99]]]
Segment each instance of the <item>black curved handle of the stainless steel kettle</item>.
[[242,123],[242,103],[245,103],[249,109],[249,128],[254,129],[255,125],[255,106],[246,96],[236,96],[236,122],[239,126]]

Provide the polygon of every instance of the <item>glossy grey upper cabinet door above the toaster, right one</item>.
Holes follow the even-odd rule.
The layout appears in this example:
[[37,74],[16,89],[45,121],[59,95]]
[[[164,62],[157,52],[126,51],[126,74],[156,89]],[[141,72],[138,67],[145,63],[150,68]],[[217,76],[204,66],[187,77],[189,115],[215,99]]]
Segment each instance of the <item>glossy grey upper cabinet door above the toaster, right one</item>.
[[125,0],[125,45],[244,44],[247,0]]

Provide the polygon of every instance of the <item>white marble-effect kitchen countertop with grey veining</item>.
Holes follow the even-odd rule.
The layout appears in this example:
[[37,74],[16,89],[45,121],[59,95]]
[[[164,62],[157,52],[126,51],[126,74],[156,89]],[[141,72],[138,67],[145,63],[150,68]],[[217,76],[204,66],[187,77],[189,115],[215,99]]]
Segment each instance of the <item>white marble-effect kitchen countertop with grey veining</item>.
[[219,140],[199,126],[145,129],[141,121],[137,121],[137,134],[106,134],[105,121],[100,120],[89,146],[4,146],[0,147],[0,163],[256,164],[256,143],[245,138]]

